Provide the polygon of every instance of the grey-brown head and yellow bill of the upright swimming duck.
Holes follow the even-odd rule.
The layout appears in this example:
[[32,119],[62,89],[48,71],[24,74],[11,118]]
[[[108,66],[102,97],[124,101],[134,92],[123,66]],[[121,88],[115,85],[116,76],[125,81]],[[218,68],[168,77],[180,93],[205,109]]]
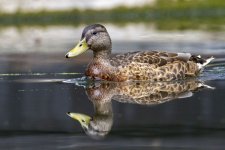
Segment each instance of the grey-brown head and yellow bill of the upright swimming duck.
[[92,50],[94,56],[108,56],[111,45],[110,36],[103,25],[89,25],[84,28],[79,43],[66,54],[66,58],[78,56],[87,50]]

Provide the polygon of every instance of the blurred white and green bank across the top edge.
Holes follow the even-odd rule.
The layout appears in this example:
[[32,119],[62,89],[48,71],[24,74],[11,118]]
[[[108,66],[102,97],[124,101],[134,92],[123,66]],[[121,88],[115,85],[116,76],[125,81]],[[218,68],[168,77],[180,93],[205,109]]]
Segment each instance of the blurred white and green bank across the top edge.
[[160,30],[222,30],[225,23],[224,0],[11,0],[0,3],[2,27],[153,22]]

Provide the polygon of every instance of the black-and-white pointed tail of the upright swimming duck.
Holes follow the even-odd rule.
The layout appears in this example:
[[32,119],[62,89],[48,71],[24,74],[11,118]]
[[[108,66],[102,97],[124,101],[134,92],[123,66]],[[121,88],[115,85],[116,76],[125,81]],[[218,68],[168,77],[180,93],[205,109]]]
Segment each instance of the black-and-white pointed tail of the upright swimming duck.
[[192,55],[190,58],[191,61],[194,61],[195,63],[197,63],[198,69],[200,71],[203,71],[204,67],[208,65],[213,59],[214,59],[213,56],[207,59],[203,59],[201,58],[200,55],[199,56]]

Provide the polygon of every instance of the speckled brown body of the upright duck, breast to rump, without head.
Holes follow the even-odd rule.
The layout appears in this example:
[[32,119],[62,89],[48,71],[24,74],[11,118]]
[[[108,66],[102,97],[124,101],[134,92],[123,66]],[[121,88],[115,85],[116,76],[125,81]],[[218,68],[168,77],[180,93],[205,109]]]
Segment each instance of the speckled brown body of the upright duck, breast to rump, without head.
[[[197,76],[201,69],[191,60],[194,56],[179,54],[149,51],[117,55],[108,60],[94,58],[86,75],[109,81],[171,81]],[[205,60],[200,60],[204,64]]]

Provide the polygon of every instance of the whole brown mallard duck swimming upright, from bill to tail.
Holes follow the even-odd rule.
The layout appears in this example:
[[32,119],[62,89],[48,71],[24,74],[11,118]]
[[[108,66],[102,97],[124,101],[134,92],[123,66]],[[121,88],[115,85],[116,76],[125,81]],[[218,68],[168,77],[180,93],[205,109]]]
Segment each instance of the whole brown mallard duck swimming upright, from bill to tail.
[[112,43],[106,28],[93,24],[84,28],[81,40],[66,58],[92,50],[94,58],[85,75],[108,81],[171,81],[196,77],[214,58],[203,59],[190,53],[137,51],[111,56]]

